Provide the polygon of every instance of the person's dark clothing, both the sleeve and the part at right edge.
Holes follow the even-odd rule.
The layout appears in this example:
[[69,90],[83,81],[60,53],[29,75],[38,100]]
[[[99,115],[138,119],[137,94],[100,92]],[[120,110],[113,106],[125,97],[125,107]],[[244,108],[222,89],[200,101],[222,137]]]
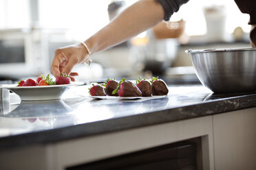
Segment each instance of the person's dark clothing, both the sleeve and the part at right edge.
[[[164,20],[168,21],[174,12],[178,12],[180,6],[187,3],[189,0],[156,0],[164,9]],[[242,13],[250,15],[250,21],[248,24],[253,25],[250,31],[250,40],[252,45],[256,45],[256,0],[235,0],[239,10]],[[235,16],[234,16],[235,17]]]

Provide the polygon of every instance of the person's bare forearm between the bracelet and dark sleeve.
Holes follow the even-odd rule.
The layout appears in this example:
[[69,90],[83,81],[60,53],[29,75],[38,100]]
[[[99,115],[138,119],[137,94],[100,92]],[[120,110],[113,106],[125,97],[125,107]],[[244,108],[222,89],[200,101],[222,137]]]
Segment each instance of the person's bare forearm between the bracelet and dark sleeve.
[[136,36],[162,19],[164,19],[164,10],[160,3],[155,0],[141,0],[85,40],[85,43],[92,53],[97,53]]

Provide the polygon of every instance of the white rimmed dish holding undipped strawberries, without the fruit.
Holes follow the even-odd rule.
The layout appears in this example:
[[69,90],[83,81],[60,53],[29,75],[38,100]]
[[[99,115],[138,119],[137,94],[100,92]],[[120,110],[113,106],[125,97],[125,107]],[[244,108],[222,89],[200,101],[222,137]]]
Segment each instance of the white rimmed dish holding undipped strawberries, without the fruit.
[[61,99],[63,93],[71,86],[81,86],[83,82],[52,86],[17,86],[17,84],[2,84],[0,88],[7,88],[21,97],[23,101]]

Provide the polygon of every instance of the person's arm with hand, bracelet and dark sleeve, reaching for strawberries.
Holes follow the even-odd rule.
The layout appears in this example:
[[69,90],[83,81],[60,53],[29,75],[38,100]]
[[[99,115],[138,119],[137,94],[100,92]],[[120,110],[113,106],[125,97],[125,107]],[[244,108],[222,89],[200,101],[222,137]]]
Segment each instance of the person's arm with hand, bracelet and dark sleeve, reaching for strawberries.
[[[140,0],[129,6],[108,25],[85,40],[85,44],[91,54],[103,51],[140,34],[140,32],[153,27],[163,19],[168,20],[171,14],[177,12],[180,5],[187,1]],[[88,60],[88,51],[82,44],[56,49],[51,73],[55,77],[61,75],[61,73],[69,75],[75,64],[87,62]]]

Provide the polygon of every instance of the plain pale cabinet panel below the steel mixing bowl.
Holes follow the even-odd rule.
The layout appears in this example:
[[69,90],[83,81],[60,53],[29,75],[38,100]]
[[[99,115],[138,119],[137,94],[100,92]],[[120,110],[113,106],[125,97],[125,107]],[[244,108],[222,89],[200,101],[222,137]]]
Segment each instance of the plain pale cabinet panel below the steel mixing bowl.
[[256,108],[213,116],[215,169],[256,169]]

